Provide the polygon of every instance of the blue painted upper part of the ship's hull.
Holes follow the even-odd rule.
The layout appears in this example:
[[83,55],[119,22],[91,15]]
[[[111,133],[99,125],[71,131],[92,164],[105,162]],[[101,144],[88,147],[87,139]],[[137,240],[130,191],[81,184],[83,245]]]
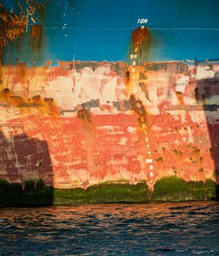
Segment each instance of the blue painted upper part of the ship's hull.
[[[16,0],[1,1],[16,11]],[[147,18],[147,61],[218,60],[218,0],[50,0],[45,6],[41,46],[33,50],[30,27],[10,45],[11,64],[45,65],[47,60],[128,60],[133,29]],[[31,23],[30,23],[31,25]],[[6,64],[7,49],[3,62]]]

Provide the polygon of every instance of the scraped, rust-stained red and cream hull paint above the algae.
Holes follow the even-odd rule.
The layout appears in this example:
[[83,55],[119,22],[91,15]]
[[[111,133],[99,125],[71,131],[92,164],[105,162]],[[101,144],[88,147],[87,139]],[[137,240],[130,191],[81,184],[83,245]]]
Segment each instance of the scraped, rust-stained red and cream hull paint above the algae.
[[[56,188],[152,188],[164,176],[218,183],[219,63],[146,62],[146,26],[130,33],[127,63],[0,66],[1,179]],[[33,48],[41,29],[31,28]]]

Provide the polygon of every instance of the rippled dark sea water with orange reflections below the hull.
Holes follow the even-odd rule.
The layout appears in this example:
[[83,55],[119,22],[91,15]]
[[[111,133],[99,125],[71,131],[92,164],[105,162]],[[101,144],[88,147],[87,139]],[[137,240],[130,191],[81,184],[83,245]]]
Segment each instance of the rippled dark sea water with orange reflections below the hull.
[[0,255],[219,255],[219,203],[0,208]]

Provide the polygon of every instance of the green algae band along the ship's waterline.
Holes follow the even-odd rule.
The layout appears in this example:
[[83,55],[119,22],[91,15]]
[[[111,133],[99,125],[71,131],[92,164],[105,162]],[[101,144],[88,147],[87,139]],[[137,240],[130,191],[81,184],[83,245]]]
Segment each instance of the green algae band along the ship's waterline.
[[150,192],[146,183],[101,183],[89,188],[59,189],[43,181],[19,183],[0,181],[0,206],[70,206],[84,203],[147,203],[150,201],[202,201],[216,198],[215,182],[186,182],[182,178],[164,177]]

